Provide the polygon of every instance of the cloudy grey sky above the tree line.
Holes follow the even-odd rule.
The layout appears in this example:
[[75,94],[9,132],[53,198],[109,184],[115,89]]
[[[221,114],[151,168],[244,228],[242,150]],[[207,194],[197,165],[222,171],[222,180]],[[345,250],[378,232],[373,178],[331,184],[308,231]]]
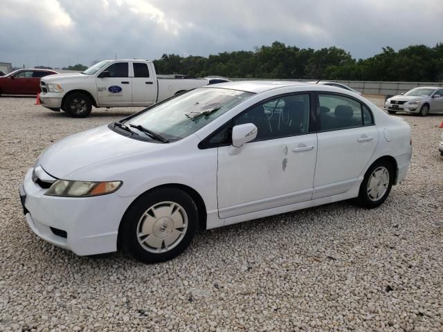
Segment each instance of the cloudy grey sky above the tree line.
[[442,0],[0,0],[0,62],[67,66],[163,53],[209,55],[278,40],[338,46],[443,42]]

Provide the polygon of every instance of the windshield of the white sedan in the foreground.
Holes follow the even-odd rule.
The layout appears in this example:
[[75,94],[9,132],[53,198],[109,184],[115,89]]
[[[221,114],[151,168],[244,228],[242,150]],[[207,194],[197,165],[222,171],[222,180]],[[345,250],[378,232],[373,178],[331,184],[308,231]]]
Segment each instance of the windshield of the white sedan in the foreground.
[[203,128],[253,93],[200,88],[183,93],[129,118],[125,124],[141,125],[169,140],[180,140]]

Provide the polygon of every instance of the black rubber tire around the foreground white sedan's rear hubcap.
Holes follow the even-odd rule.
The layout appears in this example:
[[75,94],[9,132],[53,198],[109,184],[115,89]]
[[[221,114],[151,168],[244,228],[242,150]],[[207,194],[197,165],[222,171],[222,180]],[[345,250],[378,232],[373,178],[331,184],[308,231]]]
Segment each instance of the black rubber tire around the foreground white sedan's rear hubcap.
[[[386,185],[386,191],[378,195],[377,194],[378,190],[383,191],[383,183],[382,183],[383,181],[380,181],[379,177],[374,176],[373,174],[374,171],[377,170],[377,173],[379,173],[380,172],[379,170],[383,169],[386,169],[389,178],[388,178],[388,183]],[[359,197],[357,198],[359,205],[363,206],[364,208],[372,209],[372,208],[377,208],[377,206],[383,204],[383,202],[386,201],[386,199],[389,196],[390,190],[392,188],[392,183],[394,182],[394,176],[395,176],[394,166],[388,160],[379,160],[376,163],[372,164],[371,167],[369,167],[368,171],[366,171],[365,177],[363,178],[363,182],[360,185]],[[374,178],[371,179],[371,177]],[[374,190],[371,190],[369,187],[370,181],[372,181],[371,182],[372,184],[377,185],[377,190],[375,192]],[[370,190],[371,194],[369,192]]]

